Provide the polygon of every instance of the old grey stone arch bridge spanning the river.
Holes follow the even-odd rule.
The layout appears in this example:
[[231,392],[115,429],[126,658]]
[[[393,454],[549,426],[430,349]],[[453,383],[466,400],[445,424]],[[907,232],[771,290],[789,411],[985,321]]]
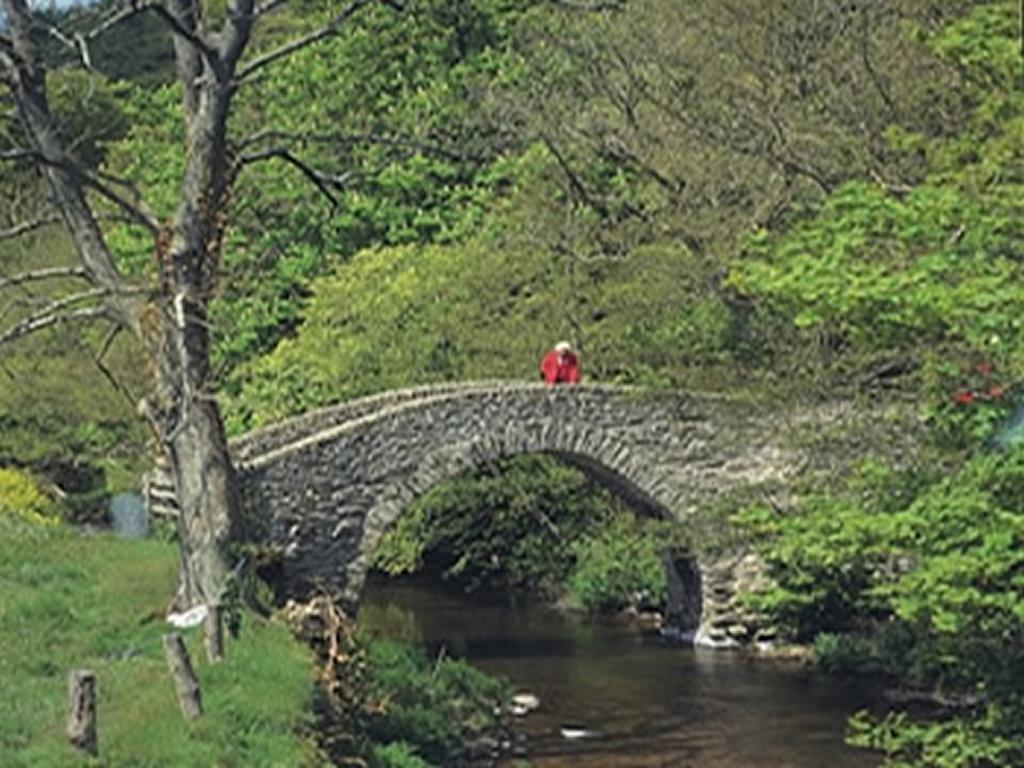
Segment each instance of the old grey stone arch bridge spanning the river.
[[[325,408],[230,449],[251,538],[280,548],[286,590],[332,583],[354,606],[382,534],[416,497],[459,473],[550,454],[685,524],[723,495],[784,487],[820,447],[809,451],[806,439],[799,447],[799,435],[835,421],[835,409],[809,413],[681,391],[476,382]],[[712,564],[695,567],[699,579]],[[709,604],[729,602],[716,589],[703,585],[687,623],[706,627]]]

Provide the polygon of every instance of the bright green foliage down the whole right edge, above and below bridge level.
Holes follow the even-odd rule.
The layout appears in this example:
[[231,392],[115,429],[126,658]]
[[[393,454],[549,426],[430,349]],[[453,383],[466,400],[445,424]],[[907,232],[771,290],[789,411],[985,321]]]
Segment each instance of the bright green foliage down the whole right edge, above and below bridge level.
[[[776,585],[761,606],[828,664],[888,672],[938,717],[854,719],[854,743],[893,766],[1024,761],[1024,475],[1013,422],[1024,373],[1024,91],[1009,3],[930,39],[961,71],[955,135],[893,131],[927,158],[919,183],[856,182],[781,234],[755,238],[733,284],[834,356],[922,366],[929,464],[865,467],[797,509],[748,510]],[[965,459],[965,452],[967,452]]]

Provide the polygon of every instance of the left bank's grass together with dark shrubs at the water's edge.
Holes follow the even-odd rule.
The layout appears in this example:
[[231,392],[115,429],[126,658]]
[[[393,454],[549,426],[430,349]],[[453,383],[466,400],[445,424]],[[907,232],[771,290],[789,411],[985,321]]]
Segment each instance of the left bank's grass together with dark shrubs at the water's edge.
[[[32,478],[0,472],[0,756],[4,766],[92,765],[63,735],[68,673],[98,683],[99,755],[109,765],[446,764],[502,733],[507,685],[464,662],[342,636],[344,707],[330,707],[310,647],[287,612],[244,611],[224,659],[185,633],[204,715],[178,712],[161,636],[178,553],[160,538],[123,540],[69,526]],[[337,703],[337,701],[335,702]]]

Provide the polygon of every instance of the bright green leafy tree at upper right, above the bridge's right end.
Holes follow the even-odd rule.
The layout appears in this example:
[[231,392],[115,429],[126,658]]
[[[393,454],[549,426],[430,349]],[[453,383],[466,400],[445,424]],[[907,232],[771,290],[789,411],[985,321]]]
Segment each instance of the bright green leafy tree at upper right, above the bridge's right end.
[[887,131],[927,159],[921,183],[845,184],[806,221],[758,233],[734,264],[730,284],[820,350],[806,364],[904,358],[947,396],[962,365],[1020,375],[1024,98],[1011,5],[983,4],[931,39],[973,109],[951,136]]

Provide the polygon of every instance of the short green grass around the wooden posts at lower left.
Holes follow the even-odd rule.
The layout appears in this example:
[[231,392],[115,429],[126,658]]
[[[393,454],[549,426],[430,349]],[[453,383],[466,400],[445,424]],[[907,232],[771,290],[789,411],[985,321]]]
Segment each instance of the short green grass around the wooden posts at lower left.
[[[0,765],[311,766],[313,659],[287,627],[247,614],[224,662],[186,633],[206,714],[186,724],[163,657],[177,550],[0,517]],[[68,674],[97,678],[99,758],[63,735]]]

